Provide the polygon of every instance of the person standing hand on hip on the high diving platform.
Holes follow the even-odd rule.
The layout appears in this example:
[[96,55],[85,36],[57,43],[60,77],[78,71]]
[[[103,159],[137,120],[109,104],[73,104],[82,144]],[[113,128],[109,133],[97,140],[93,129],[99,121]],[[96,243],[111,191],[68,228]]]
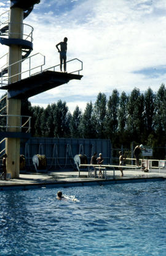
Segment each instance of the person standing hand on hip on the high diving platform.
[[[64,67],[64,72],[66,72],[66,52],[67,52],[67,41],[68,38],[64,38],[63,42],[60,42],[56,45],[58,53],[60,53],[60,70],[62,72],[62,63]],[[58,48],[60,46],[60,49]]]

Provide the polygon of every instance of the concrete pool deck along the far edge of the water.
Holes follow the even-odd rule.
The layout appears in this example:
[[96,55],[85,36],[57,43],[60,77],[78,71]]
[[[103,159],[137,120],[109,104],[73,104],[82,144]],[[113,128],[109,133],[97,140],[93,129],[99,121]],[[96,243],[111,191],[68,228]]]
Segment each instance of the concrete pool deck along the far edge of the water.
[[141,170],[125,170],[124,177],[121,177],[121,172],[116,171],[115,177],[113,176],[113,171],[107,171],[107,179],[88,177],[87,171],[81,171],[80,177],[78,177],[78,171],[49,171],[47,173],[20,173],[18,179],[8,179],[7,181],[0,179],[0,189],[12,187],[28,187],[28,186],[46,186],[50,184],[61,185],[64,184],[74,186],[79,184],[90,184],[91,182],[113,182],[113,183],[124,183],[124,182],[143,182],[151,181],[152,179],[166,179],[166,170],[165,173],[159,170],[152,170],[149,173],[144,173]]

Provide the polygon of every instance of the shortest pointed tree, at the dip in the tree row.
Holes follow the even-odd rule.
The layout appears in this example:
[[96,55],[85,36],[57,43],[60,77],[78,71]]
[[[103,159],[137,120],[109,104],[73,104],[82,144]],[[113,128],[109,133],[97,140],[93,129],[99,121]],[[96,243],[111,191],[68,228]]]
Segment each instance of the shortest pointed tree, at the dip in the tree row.
[[73,112],[73,116],[71,117],[71,120],[69,122],[69,129],[72,138],[79,138],[81,136],[79,132],[81,117],[81,110],[79,109],[79,106],[76,106],[76,109]]

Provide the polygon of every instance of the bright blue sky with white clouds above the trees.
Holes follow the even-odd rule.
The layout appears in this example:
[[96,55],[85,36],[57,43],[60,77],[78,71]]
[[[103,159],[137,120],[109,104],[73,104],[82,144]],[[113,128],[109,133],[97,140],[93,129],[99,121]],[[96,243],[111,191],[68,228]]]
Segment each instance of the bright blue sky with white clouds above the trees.
[[[0,14],[9,7],[10,1],[0,0]],[[65,36],[67,60],[83,62],[81,80],[29,98],[33,106],[61,100],[73,113],[76,106],[84,111],[87,103],[95,103],[100,92],[107,98],[114,89],[120,95],[135,87],[157,92],[165,83],[165,0],[41,0],[24,23],[34,28],[31,55],[44,54],[45,69],[59,64],[55,45]],[[1,57],[8,46],[0,49]]]

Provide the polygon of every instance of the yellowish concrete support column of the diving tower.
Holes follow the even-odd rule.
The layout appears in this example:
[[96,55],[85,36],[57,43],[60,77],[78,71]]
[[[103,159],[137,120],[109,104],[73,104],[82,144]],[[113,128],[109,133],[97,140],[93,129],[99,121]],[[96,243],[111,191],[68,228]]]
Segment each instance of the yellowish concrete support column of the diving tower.
[[[9,38],[23,37],[23,9],[18,7],[10,9],[10,25]],[[9,83],[17,82],[21,72],[22,63],[18,62],[22,59],[22,47],[19,45],[10,45],[9,47]],[[7,100],[7,115],[9,132],[20,132],[20,116],[21,114],[21,100],[8,99]],[[14,116],[10,116],[14,115]],[[12,127],[11,127],[12,126]],[[20,174],[20,139],[7,138],[6,139],[6,153],[7,153],[7,173],[11,174],[12,178],[18,178]]]

